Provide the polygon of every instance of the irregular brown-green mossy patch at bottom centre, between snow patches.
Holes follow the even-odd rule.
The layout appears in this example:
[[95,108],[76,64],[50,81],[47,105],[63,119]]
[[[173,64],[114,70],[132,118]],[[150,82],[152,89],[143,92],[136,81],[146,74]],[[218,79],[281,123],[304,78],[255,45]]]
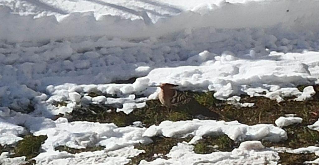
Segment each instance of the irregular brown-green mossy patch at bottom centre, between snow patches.
[[[135,148],[144,150],[145,153],[139,154],[131,159],[126,165],[137,165],[141,160],[153,161],[158,157],[167,159],[165,156],[169,153],[173,146],[176,146],[177,143],[182,141],[189,141],[191,137],[187,138],[166,138],[166,137],[152,137],[153,143],[148,145],[137,145]],[[154,154],[160,155],[154,157]]]

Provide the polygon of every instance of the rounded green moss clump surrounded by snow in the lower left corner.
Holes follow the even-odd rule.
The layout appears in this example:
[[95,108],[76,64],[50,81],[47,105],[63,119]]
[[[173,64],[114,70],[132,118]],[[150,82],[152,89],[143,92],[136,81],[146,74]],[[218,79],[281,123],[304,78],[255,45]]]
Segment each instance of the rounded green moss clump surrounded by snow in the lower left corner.
[[41,144],[48,137],[46,135],[33,136],[27,135],[14,148],[14,157],[26,156],[26,159],[33,158],[40,153]]

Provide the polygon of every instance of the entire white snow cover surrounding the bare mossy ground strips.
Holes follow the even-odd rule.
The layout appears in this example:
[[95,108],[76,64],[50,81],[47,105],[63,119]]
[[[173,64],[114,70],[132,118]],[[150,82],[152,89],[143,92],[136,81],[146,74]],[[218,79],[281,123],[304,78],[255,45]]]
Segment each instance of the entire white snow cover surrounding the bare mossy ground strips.
[[[241,94],[278,102],[291,96],[298,101],[311,99],[313,85],[319,83],[318,2],[0,1],[0,144],[15,144],[30,131],[48,135],[43,152],[35,158],[42,164],[125,164],[140,152],[132,145],[149,143],[154,135],[192,134],[190,143],[211,134],[226,134],[237,141],[284,140],[286,132],[271,124],[188,120],[145,128],[138,122],[134,127],[117,127],[52,118],[90,104],[113,106],[128,114],[156,99],[159,88],[151,86],[164,82],[182,90],[215,91],[214,97],[240,107],[254,106],[240,103]],[[132,77],[138,78],[114,83]],[[307,87],[300,92],[297,85]],[[30,106],[34,111],[26,114]],[[308,127],[319,130],[318,122]],[[54,151],[58,145],[106,149],[68,154]],[[275,151],[261,149],[258,142],[242,145],[233,152],[199,155],[192,146],[179,143],[168,154],[171,159],[152,163],[202,159],[199,163],[267,160],[275,164],[278,160]],[[255,149],[243,149],[249,146]],[[110,156],[107,151],[127,152]],[[179,157],[180,153],[185,155]],[[5,155],[2,164],[24,161]]]

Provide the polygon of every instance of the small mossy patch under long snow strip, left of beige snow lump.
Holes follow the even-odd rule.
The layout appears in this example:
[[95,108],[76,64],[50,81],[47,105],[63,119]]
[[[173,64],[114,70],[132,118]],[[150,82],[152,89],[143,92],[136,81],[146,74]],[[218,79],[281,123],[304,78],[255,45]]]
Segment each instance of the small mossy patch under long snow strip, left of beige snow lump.
[[194,145],[194,152],[197,154],[208,154],[215,151],[232,151],[236,144],[227,135],[217,137],[204,136],[203,139]]

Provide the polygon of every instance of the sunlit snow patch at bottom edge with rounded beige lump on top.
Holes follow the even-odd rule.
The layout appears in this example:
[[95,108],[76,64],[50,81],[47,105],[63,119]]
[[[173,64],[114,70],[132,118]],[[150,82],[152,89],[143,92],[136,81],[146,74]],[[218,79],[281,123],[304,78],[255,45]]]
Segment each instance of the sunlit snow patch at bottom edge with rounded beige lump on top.
[[239,148],[231,152],[212,152],[211,154],[196,154],[194,146],[187,143],[178,143],[166,155],[169,159],[157,158],[152,162],[142,160],[141,165],[168,165],[168,164],[278,164],[278,153],[272,149],[265,149],[260,141],[242,142]]

